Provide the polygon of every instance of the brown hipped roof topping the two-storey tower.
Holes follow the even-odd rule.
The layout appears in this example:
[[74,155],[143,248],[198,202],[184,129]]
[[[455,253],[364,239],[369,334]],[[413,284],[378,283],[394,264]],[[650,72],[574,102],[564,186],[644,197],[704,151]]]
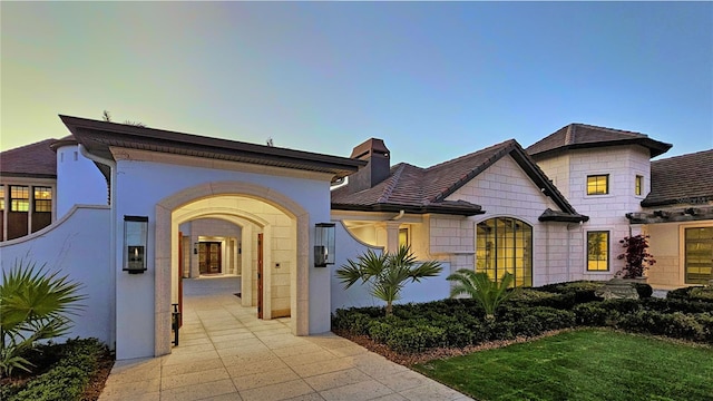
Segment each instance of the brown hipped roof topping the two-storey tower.
[[527,148],[535,159],[541,159],[568,149],[585,149],[614,145],[641,145],[648,148],[651,157],[671,149],[672,145],[651,139],[647,135],[622,129],[570,124],[538,140]]

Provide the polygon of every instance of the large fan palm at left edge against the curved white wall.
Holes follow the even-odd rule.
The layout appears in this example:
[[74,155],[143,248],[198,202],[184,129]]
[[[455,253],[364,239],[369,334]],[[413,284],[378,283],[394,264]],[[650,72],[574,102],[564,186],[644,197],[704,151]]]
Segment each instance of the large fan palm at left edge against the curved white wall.
[[71,329],[67,316],[76,314],[86,296],[77,294],[72,283],[59,272],[48,273],[33,262],[16,261],[12,270],[2,271],[0,283],[0,373],[10,375],[31,363],[22,355],[40,340],[65,335]]

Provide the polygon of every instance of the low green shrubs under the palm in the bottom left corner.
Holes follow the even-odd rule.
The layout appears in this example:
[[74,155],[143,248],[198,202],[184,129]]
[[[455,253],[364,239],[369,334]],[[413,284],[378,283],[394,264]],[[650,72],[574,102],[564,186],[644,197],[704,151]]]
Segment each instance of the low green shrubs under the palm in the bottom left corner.
[[39,348],[46,358],[56,360],[52,366],[23,388],[3,387],[0,399],[7,401],[79,400],[98,366],[106,348],[96,339],[68,340],[65,344]]

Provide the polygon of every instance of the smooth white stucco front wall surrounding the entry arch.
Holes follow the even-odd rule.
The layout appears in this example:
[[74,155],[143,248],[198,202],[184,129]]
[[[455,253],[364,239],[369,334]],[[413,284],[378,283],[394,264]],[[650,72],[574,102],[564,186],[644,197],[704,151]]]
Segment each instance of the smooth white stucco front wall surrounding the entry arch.
[[[127,153],[113,149],[117,158],[116,211],[117,250],[123,250],[124,215],[148,216],[149,237],[147,261],[148,271],[129,275],[117,268],[117,358],[139,358],[153,355],[154,348],[154,300],[155,294],[155,207],[162,199],[188,188],[207,183],[238,182],[254,184],[285,195],[309,214],[309,226],[330,219],[330,177],[314,173],[267,168],[252,165],[238,165],[216,162],[212,167],[194,164],[205,163],[179,156],[160,156],[167,160],[144,162],[136,159],[146,154]],[[150,155],[149,155],[150,156]],[[168,163],[170,162],[170,163]],[[195,162],[195,163],[194,163]],[[240,195],[240,194],[236,194]],[[177,227],[176,227],[177,229]],[[177,234],[177,233],[176,233]],[[303,241],[312,241],[309,235]],[[309,244],[309,250],[313,248]],[[118,252],[116,265],[121,266],[123,253]],[[330,286],[329,270],[314,268],[312,255],[309,263],[309,332],[321,333],[330,330]],[[159,294],[162,295],[162,294]],[[163,297],[166,295],[159,296]],[[300,301],[300,300],[297,300]],[[163,317],[162,317],[163,319]],[[120,353],[120,356],[119,356]]]

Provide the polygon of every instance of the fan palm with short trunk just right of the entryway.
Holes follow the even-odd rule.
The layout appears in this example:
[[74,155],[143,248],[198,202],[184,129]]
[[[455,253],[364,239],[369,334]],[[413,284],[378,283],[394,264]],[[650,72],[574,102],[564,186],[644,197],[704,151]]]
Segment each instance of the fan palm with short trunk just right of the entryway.
[[349,260],[348,264],[336,270],[336,276],[344,283],[344,290],[356,282],[369,285],[369,293],[387,303],[387,316],[393,313],[393,301],[401,299],[401,290],[411,281],[420,282],[423,277],[433,277],[441,273],[439,262],[417,263],[409,246],[402,245],[395,253],[377,255],[371,250]]

